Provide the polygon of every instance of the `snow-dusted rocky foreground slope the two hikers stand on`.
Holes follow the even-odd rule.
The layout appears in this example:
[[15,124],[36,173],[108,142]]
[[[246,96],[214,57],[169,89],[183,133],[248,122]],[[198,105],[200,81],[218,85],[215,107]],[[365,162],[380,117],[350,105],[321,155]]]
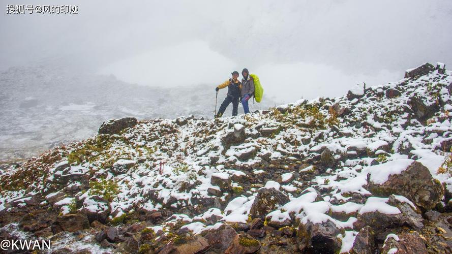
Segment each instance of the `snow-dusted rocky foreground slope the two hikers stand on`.
[[74,253],[452,251],[452,72],[238,117],[104,122],[1,171],[0,236]]

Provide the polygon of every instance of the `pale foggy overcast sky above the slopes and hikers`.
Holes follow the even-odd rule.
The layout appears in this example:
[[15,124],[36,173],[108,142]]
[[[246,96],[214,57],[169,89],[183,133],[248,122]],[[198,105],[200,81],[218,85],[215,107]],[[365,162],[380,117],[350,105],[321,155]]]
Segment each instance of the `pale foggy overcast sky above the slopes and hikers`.
[[[265,96],[341,96],[426,61],[452,69],[452,1],[5,1],[0,70],[51,62],[153,86],[212,84],[248,68]],[[8,4],[79,14],[6,14]]]

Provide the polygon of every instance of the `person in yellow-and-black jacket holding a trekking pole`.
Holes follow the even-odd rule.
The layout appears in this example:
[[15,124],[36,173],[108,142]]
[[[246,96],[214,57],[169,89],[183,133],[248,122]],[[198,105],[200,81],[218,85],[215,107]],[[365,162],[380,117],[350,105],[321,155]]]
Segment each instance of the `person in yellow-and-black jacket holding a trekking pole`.
[[238,81],[237,71],[234,71],[231,74],[232,78],[226,80],[223,84],[220,84],[215,88],[217,92],[218,90],[223,89],[225,87],[228,88],[228,94],[224,99],[223,103],[221,104],[220,109],[218,110],[218,113],[215,117],[221,117],[231,102],[232,102],[232,115],[233,116],[237,115],[238,100],[240,97],[240,81]]

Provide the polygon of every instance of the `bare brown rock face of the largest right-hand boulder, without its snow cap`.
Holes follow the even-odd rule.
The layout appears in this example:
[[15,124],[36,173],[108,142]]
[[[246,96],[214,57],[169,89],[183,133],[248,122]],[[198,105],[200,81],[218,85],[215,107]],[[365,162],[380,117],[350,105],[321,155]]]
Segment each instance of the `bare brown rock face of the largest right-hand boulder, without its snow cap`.
[[419,162],[411,163],[400,174],[390,175],[382,184],[369,180],[368,189],[374,195],[402,195],[426,210],[435,207],[444,195],[441,183]]

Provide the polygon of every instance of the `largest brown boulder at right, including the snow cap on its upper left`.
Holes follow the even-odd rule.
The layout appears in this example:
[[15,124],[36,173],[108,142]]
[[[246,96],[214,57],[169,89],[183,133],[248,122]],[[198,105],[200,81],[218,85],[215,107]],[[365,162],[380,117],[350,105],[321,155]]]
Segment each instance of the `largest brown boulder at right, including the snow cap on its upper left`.
[[[402,172],[397,174],[395,171]],[[384,179],[385,174],[389,175],[387,180]],[[444,195],[443,186],[432,177],[429,169],[412,160],[391,161],[373,166],[368,182],[368,189],[374,195],[402,195],[425,210],[435,207]]]

